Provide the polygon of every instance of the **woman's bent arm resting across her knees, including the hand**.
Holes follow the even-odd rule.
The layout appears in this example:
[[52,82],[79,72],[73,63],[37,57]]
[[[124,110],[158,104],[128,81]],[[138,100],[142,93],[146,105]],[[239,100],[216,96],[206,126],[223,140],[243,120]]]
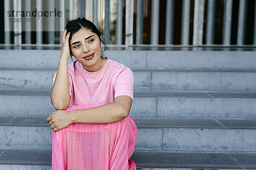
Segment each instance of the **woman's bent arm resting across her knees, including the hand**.
[[54,111],[46,121],[54,132],[71,123],[113,123],[128,116],[132,104],[130,96],[117,96],[115,102],[78,111]]

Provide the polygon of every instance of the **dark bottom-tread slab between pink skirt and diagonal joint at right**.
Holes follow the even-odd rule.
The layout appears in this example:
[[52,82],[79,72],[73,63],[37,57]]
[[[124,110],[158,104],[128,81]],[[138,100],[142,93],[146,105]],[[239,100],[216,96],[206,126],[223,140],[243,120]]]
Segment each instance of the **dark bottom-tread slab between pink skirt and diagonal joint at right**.
[[242,169],[227,153],[197,152],[134,152],[131,156],[137,167]]

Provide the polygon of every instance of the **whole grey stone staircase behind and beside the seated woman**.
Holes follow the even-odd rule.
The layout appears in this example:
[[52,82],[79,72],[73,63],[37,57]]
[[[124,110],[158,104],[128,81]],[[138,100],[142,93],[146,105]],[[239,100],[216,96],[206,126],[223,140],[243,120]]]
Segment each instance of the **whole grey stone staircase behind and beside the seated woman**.
[[[0,169],[50,170],[60,50],[0,50]],[[106,51],[134,72],[139,170],[256,169],[255,51]],[[70,63],[71,61],[69,61]],[[30,118],[30,119],[28,119]]]

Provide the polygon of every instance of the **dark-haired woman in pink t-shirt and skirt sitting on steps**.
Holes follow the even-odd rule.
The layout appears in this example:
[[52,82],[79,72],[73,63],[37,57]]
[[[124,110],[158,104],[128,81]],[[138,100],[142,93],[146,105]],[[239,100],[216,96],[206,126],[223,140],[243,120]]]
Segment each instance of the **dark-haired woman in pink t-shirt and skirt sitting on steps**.
[[[136,170],[134,74],[102,56],[105,40],[92,22],[77,18],[65,28],[51,93],[56,111],[47,117],[52,170]],[[67,64],[70,54],[76,61]]]

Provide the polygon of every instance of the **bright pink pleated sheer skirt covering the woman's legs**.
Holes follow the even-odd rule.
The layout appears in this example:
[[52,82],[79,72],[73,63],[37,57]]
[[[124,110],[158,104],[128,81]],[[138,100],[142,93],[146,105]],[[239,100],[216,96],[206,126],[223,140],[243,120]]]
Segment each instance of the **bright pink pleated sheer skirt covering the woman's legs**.
[[[65,111],[97,107],[70,106]],[[114,123],[72,123],[52,130],[52,170],[136,170],[137,139],[132,116]]]

